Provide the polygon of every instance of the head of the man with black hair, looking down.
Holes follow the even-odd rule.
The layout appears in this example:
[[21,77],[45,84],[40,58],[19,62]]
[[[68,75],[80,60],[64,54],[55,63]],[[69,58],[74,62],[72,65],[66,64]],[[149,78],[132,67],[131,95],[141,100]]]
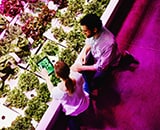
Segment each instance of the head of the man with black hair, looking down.
[[87,38],[97,34],[102,28],[102,21],[96,14],[87,14],[80,20],[81,28]]

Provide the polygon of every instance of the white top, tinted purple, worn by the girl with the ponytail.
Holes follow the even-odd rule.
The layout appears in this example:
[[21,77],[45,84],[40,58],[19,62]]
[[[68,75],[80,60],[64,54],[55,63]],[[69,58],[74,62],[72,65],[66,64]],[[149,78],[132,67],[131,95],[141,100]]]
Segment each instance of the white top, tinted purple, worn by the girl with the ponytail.
[[76,90],[71,96],[60,90],[59,85],[61,83],[53,88],[52,97],[53,99],[60,100],[66,115],[77,116],[89,106],[89,96],[82,89],[82,78],[78,77],[76,79]]

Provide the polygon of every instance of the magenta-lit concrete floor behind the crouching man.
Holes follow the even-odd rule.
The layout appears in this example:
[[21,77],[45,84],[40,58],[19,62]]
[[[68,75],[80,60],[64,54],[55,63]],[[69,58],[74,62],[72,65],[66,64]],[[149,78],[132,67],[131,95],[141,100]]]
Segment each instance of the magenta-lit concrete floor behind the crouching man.
[[108,75],[82,116],[82,130],[160,130],[159,48],[160,0],[154,0],[127,48],[139,65]]

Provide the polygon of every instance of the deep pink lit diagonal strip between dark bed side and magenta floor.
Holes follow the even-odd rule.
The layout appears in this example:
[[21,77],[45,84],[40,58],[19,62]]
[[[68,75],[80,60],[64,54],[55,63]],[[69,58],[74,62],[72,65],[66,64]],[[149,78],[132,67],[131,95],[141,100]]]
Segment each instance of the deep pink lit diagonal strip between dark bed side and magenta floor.
[[121,51],[126,50],[134,38],[148,4],[149,0],[135,0],[131,11],[117,35],[117,43]]

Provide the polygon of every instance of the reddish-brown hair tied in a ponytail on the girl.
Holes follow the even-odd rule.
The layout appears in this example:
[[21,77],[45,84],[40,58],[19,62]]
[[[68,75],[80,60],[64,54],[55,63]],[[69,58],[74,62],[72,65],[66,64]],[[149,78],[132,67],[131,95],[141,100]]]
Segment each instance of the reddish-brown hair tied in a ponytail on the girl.
[[65,86],[70,94],[72,94],[75,90],[74,82],[69,77],[70,68],[64,61],[57,61],[54,65],[55,74],[62,78],[65,81]]

